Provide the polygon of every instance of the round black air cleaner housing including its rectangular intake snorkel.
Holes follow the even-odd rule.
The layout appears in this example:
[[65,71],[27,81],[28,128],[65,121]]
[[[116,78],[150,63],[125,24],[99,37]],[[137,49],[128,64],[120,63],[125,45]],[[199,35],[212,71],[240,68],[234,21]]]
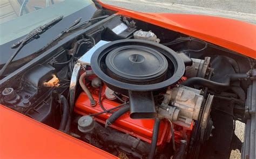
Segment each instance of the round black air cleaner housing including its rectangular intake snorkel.
[[91,57],[94,73],[113,91],[129,95],[130,117],[154,118],[154,90],[177,83],[185,64],[157,42],[125,39],[99,47]]

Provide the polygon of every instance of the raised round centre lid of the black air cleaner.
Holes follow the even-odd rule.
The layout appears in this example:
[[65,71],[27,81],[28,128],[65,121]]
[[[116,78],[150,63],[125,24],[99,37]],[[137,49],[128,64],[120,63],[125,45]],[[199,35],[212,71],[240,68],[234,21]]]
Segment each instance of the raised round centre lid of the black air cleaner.
[[163,76],[168,68],[164,55],[144,46],[127,45],[106,56],[106,66],[120,78],[148,81]]

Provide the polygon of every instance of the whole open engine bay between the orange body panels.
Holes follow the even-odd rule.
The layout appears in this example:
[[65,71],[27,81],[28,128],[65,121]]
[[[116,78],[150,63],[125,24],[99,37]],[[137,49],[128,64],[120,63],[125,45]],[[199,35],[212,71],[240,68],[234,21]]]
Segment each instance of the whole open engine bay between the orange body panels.
[[256,61],[111,15],[1,81],[0,103],[121,158],[228,158]]

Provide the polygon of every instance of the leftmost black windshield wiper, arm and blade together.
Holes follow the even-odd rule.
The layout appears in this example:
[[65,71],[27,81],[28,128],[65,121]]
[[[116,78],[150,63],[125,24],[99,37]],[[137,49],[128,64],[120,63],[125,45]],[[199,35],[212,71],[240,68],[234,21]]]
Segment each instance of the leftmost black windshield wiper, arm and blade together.
[[9,65],[9,63],[14,59],[14,57],[19,53],[19,51],[22,49],[23,46],[25,46],[26,44],[28,44],[28,42],[32,41],[33,39],[37,38],[40,34],[42,34],[43,32],[45,32],[46,30],[48,30],[50,27],[52,27],[53,25],[55,25],[56,23],[58,23],[60,20],[62,20],[63,15],[59,16],[53,20],[51,20],[49,23],[46,23],[44,25],[41,25],[39,27],[36,27],[35,29],[33,29],[32,31],[30,31],[25,38],[23,38],[22,40],[19,40],[18,42],[16,42],[15,44],[12,45],[12,48],[16,48],[16,51],[11,55],[11,57],[8,59],[8,61],[4,64],[4,66],[2,67],[2,69],[0,70],[0,76],[3,75],[4,70],[6,69],[6,67]]

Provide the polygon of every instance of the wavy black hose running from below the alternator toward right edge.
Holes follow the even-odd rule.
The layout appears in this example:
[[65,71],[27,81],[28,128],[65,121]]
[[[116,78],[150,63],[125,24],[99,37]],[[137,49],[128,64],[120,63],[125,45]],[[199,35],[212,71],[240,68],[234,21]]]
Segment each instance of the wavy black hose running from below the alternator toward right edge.
[[180,85],[192,86],[192,85],[197,84],[197,85],[201,85],[201,86],[207,87],[212,90],[222,91],[222,90],[227,90],[230,88],[231,81],[238,81],[240,79],[247,78],[247,74],[228,74],[224,78],[225,78],[225,82],[219,83],[219,82],[210,81],[205,78],[192,77],[192,78],[188,78],[187,80],[181,82]]

